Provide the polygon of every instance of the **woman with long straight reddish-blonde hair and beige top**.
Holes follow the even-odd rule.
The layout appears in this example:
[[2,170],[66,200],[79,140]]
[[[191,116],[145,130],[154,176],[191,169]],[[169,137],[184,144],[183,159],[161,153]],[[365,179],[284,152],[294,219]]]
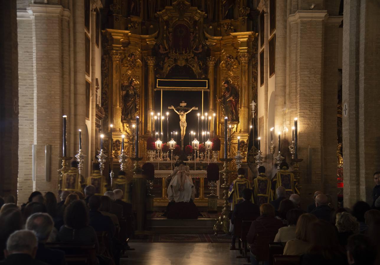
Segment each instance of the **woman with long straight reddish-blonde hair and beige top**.
[[296,225],[296,238],[289,240],[284,248],[284,255],[302,255],[306,253],[310,247],[309,233],[313,222],[317,221],[317,217],[311,213],[304,213],[299,216]]

